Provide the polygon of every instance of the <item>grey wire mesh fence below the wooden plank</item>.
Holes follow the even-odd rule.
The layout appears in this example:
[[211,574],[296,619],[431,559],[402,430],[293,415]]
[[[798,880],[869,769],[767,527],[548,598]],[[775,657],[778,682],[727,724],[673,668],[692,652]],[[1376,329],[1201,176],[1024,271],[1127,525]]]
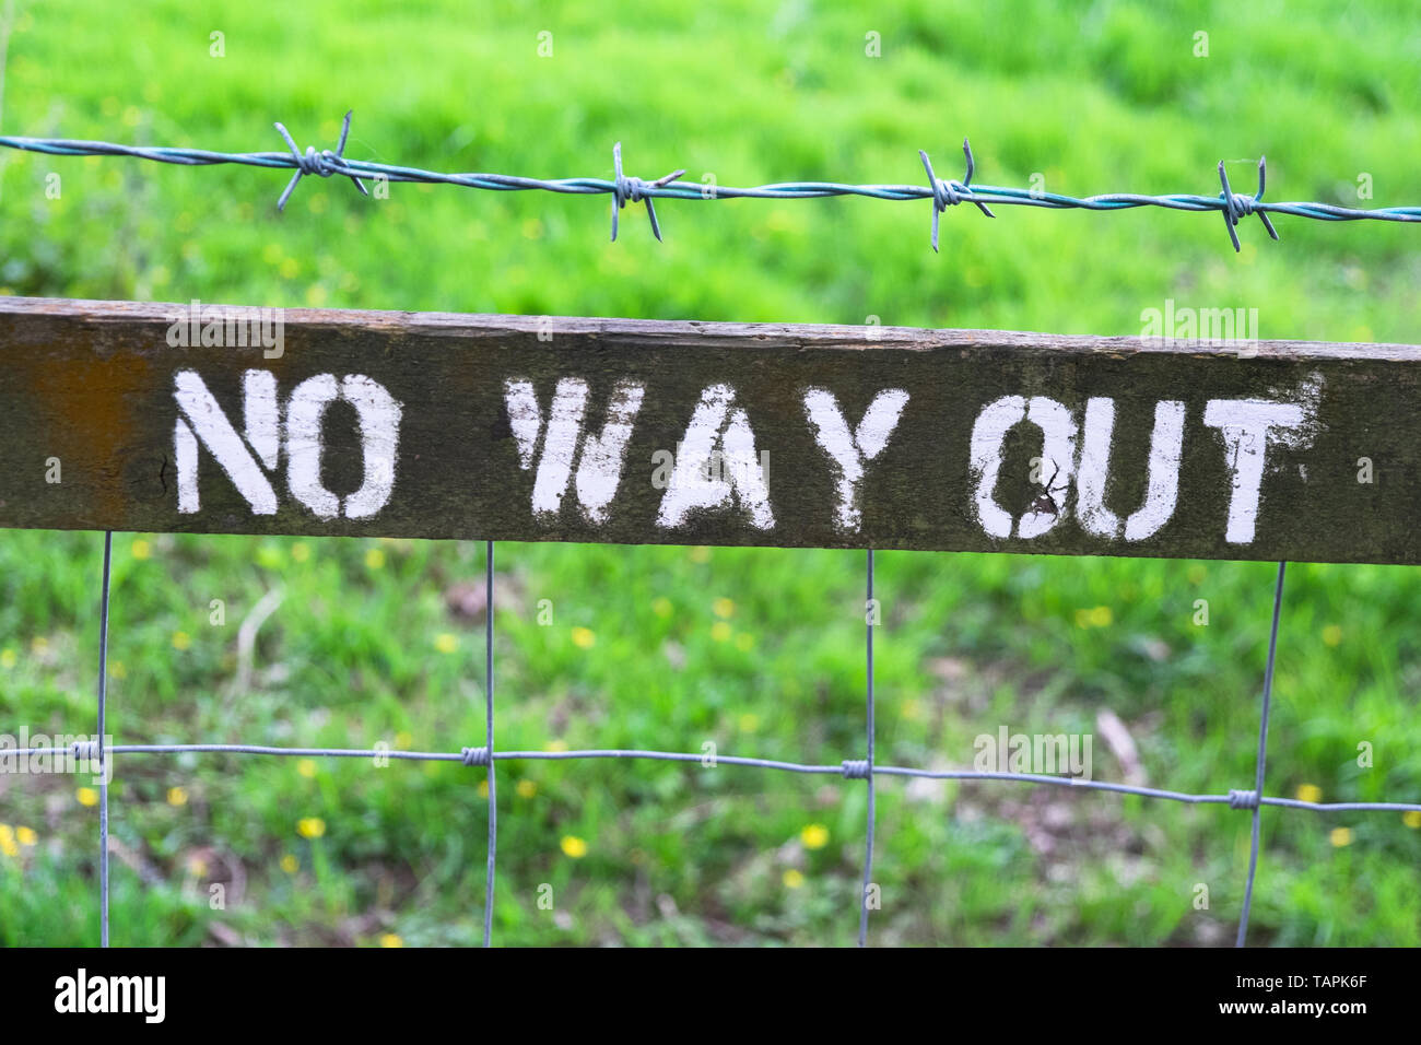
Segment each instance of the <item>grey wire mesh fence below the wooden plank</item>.
[[[1310,802],[1303,799],[1289,799],[1269,796],[1263,793],[1265,769],[1268,755],[1268,728],[1272,709],[1273,672],[1277,653],[1277,634],[1283,607],[1283,580],[1286,563],[1277,564],[1277,582],[1273,590],[1273,614],[1269,628],[1268,660],[1263,668],[1262,702],[1259,714],[1258,758],[1252,788],[1235,788],[1223,793],[1191,793],[1169,791],[1162,788],[1145,788],[1130,783],[1115,783],[1110,781],[1084,779],[1070,775],[1025,773],[1025,772],[983,772],[975,769],[922,769],[902,765],[880,765],[874,759],[874,623],[871,614],[865,614],[864,633],[864,661],[867,668],[867,688],[864,694],[865,707],[865,736],[861,752],[854,752],[854,758],[844,758],[838,765],[810,765],[801,762],[776,761],[764,758],[745,758],[736,755],[720,755],[708,752],[676,752],[642,748],[603,748],[603,749],[573,749],[573,751],[503,751],[495,746],[495,543],[485,542],[485,738],[477,746],[460,746],[458,751],[404,751],[389,749],[387,745],[375,748],[310,748],[310,746],[273,746],[261,744],[115,744],[108,738],[107,729],[107,678],[108,678],[108,620],[109,620],[109,591],[112,577],[112,532],[104,535],[104,567],[99,590],[99,648],[98,648],[98,738],[95,741],[77,741],[68,746],[34,746],[0,752],[0,771],[13,763],[17,758],[48,756],[70,759],[75,768],[80,763],[90,763],[97,768],[99,778],[98,788],[98,836],[99,836],[99,943],[109,945],[109,805],[108,782],[112,776],[109,759],[117,755],[180,755],[180,754],[227,754],[227,755],[273,755],[288,758],[371,758],[394,759],[409,762],[458,762],[469,768],[485,771],[486,805],[487,805],[487,863],[483,896],[483,945],[493,943],[493,897],[497,876],[497,773],[499,762],[516,761],[580,761],[580,759],[648,759],[661,762],[693,763],[702,768],[720,765],[767,769],[789,773],[804,773],[814,776],[838,776],[844,781],[863,781],[867,788],[867,822],[864,830],[864,862],[863,886],[858,904],[858,945],[868,944],[870,914],[875,909],[874,870],[874,829],[875,829],[875,778],[924,778],[938,781],[996,781],[1026,785],[1049,785],[1071,789],[1113,792],[1120,795],[1134,795],[1167,802],[1181,802],[1187,805],[1223,805],[1229,809],[1243,809],[1250,812],[1250,843],[1249,863],[1245,876],[1243,903],[1239,913],[1238,933],[1235,944],[1245,945],[1248,940],[1249,913],[1253,899],[1253,883],[1259,863],[1260,813],[1263,806],[1280,809],[1300,809],[1316,813],[1330,812],[1421,812],[1421,802]],[[874,601],[874,552],[865,553],[865,597],[867,604]]]

